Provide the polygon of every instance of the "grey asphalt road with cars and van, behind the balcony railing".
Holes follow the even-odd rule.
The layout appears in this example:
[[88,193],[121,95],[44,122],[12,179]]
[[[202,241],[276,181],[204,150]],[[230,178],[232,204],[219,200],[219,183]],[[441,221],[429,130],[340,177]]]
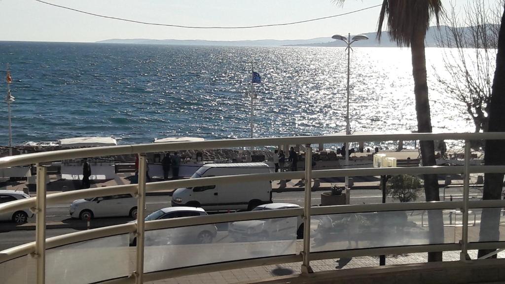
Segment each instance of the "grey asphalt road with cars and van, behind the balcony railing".
[[[442,191],[441,191],[442,192]],[[321,193],[322,192],[312,192],[311,193],[311,204],[319,205],[321,203]],[[461,187],[448,188],[446,190],[446,196],[449,195],[458,196],[462,194]],[[471,195],[480,196],[481,190],[472,190]],[[285,202],[294,203],[300,206],[304,205],[304,192],[284,192],[284,193],[274,193],[273,202]],[[351,204],[371,204],[380,203],[382,200],[382,193],[379,190],[354,190],[351,192],[350,202]],[[420,194],[419,200],[424,200],[424,194]],[[441,196],[440,200],[443,200]],[[461,200],[461,199],[454,199]],[[448,201],[448,199],[447,199]],[[387,197],[387,203],[397,202],[391,197]],[[161,208],[169,207],[171,204],[170,196],[147,196],[146,197],[146,211],[147,214],[159,210]],[[69,204],[54,204],[47,207],[47,238],[51,236],[66,234],[70,232],[75,232],[78,230],[86,229],[86,223],[81,220],[71,219],[69,216]],[[421,215],[415,218],[413,221],[416,223],[421,223]],[[410,220],[411,218],[409,218]],[[480,218],[479,218],[480,219]],[[112,224],[121,224],[130,221],[130,218],[97,218],[91,220],[92,227],[107,226]],[[26,227],[34,227],[33,222],[35,218],[29,219],[29,223],[25,224]],[[58,223],[60,226],[52,226],[49,223]],[[61,227],[63,226],[63,227]],[[53,228],[55,227],[55,228]],[[221,225],[218,227],[220,231],[224,231],[227,227]],[[15,226],[12,223],[0,223],[0,251],[15,247],[21,244],[29,243],[35,240],[35,230],[33,229],[20,229],[19,226]]]

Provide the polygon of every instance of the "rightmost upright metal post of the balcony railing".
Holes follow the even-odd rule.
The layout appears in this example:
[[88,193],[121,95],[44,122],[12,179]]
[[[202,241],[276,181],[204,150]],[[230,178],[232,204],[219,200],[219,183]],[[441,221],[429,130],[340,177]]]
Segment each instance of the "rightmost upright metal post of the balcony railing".
[[463,226],[461,232],[461,254],[460,260],[469,260],[468,256],[468,199],[470,192],[470,140],[465,140],[465,167],[463,174],[465,175],[463,183]]

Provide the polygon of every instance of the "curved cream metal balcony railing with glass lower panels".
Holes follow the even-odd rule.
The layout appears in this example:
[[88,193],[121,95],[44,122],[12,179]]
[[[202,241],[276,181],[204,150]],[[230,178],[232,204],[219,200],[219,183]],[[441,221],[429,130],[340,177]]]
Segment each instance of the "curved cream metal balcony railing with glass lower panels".
[[[463,166],[408,168],[352,168],[312,170],[314,144],[381,140],[462,140]],[[488,259],[505,248],[501,200],[471,201],[470,174],[503,173],[505,166],[471,166],[470,140],[505,139],[505,133],[415,133],[384,135],[309,136],[211,140],[160,143],[88,149],[62,150],[5,157],[0,168],[37,165],[37,197],[0,204],[0,213],[30,208],[36,214],[36,241],[0,252],[0,283],[143,283],[161,279],[212,273],[238,268],[296,263],[300,274],[271,282],[353,283],[391,282],[486,282],[505,280],[499,267],[502,259]],[[145,153],[191,149],[220,149],[273,145],[306,145],[305,170],[295,172],[240,174],[146,183]],[[84,157],[139,154],[138,184],[90,188],[46,195],[44,162]],[[258,180],[287,180],[344,176],[397,174],[463,174],[463,198],[457,201],[311,206],[311,184],[305,183],[304,208],[238,212],[198,217],[144,221],[148,192],[179,187],[245,183]],[[78,231],[46,238],[45,216],[48,204],[118,194],[137,198],[136,222]],[[449,217],[450,216],[450,217]],[[498,232],[481,228],[485,216],[496,218]],[[261,226],[241,226],[242,221],[261,221]],[[297,240],[297,222],[305,226]],[[259,223],[259,222],[258,222]],[[498,225],[499,223],[499,225]],[[203,232],[215,225],[220,241],[199,243],[184,236],[188,231]],[[487,229],[487,228],[486,228]],[[267,233],[265,233],[267,232]],[[194,233],[193,233],[194,234]],[[136,246],[130,238],[136,236]],[[180,239],[174,241],[174,239]],[[168,241],[167,241],[168,240]],[[471,250],[496,250],[476,259]],[[335,258],[444,252],[451,261],[388,265],[314,272],[311,264]],[[395,264],[392,261],[389,264]],[[479,273],[475,271],[481,271]],[[485,272],[482,272],[485,271]],[[475,272],[475,273],[474,273]],[[367,275],[366,277],[364,275]],[[308,277],[310,276],[310,277]],[[423,278],[424,277],[424,278]],[[261,279],[259,279],[261,280]],[[266,279],[265,279],[266,280]],[[368,281],[368,282],[367,282]],[[394,282],[394,281],[393,281]]]

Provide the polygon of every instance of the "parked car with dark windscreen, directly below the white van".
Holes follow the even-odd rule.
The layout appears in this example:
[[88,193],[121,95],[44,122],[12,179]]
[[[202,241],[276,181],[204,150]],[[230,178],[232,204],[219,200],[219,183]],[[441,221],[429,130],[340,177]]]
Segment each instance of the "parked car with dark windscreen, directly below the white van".
[[[187,206],[167,207],[149,214],[144,220],[153,221],[205,215],[207,215],[207,212],[203,208]],[[216,238],[217,231],[216,226],[213,224],[152,230],[146,232],[145,245],[210,244]],[[167,232],[170,232],[170,234]],[[131,233],[130,246],[135,246],[136,244],[137,238]]]

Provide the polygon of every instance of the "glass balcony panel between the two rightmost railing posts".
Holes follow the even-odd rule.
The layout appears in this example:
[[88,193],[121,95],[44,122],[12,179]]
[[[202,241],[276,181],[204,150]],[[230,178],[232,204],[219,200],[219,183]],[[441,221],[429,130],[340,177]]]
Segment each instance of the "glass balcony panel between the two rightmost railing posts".
[[[453,244],[461,228],[452,214],[410,210],[312,216],[311,251]],[[430,227],[430,221],[438,226]]]

